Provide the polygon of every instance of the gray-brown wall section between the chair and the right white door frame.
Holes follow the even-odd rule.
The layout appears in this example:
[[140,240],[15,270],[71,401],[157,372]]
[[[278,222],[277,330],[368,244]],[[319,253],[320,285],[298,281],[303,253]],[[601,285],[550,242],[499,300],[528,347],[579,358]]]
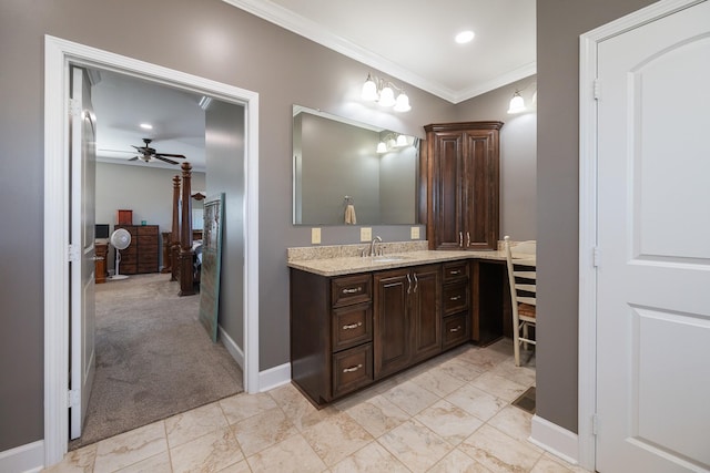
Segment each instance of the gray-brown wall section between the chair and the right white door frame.
[[579,35],[650,3],[653,1],[537,1],[537,414],[574,432],[579,328]]

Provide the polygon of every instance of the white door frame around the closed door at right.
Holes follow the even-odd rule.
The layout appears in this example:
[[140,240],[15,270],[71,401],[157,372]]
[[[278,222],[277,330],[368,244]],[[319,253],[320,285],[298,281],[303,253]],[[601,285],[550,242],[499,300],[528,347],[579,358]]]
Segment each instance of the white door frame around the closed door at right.
[[[579,37],[579,366],[578,462],[595,470],[597,412],[598,44],[707,0],[661,0]],[[597,91],[596,91],[597,89]],[[601,91],[602,93],[602,91]],[[604,99],[600,99],[604,100]]]

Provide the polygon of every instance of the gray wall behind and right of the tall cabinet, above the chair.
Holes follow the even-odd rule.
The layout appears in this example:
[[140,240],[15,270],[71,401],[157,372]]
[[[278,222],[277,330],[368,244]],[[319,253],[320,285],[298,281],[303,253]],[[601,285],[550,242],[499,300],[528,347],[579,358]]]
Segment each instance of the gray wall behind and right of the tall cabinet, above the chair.
[[[536,239],[537,193],[537,107],[532,94],[537,78],[531,75],[456,106],[457,121],[498,120],[500,130],[500,237]],[[508,114],[516,90],[528,111]]]

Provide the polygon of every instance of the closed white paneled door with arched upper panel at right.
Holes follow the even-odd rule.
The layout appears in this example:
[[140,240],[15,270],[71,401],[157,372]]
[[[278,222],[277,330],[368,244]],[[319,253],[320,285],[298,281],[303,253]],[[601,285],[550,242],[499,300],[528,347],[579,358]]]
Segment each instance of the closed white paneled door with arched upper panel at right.
[[710,471],[710,1],[599,42],[597,470]]

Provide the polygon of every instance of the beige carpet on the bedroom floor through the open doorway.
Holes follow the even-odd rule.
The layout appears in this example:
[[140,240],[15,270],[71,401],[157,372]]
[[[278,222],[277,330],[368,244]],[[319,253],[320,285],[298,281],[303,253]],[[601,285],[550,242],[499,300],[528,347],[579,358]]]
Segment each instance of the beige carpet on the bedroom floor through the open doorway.
[[73,450],[243,391],[242,370],[170,275],[97,285],[97,373]]

